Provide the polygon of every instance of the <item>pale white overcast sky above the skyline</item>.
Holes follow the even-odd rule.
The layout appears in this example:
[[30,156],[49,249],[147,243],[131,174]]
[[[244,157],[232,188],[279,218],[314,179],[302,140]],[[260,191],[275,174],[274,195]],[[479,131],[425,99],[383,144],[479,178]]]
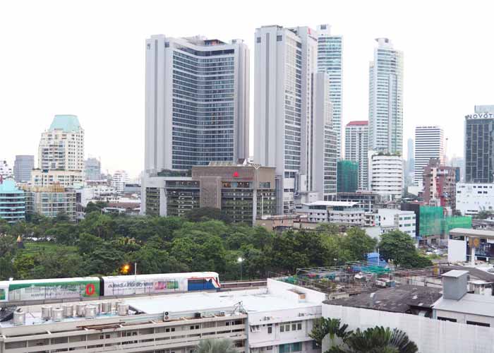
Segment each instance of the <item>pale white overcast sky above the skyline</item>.
[[[255,28],[328,23],[343,35],[343,124],[368,119],[374,39],[404,52],[404,156],[418,125],[463,155],[464,115],[494,104],[490,1],[0,1],[0,157],[37,156],[55,114],[76,114],[103,172],[144,165],[145,39],[245,40]],[[251,136],[253,131],[251,78]],[[253,146],[251,145],[251,154]],[[36,158],[37,159],[37,158]]]

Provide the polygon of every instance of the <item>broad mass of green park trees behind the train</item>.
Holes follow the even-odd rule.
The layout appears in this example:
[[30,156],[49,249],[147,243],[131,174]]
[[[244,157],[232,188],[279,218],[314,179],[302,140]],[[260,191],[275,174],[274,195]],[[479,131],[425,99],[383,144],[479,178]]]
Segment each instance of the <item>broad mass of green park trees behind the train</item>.
[[[35,215],[13,226],[0,220],[0,280],[116,275],[125,263],[137,263],[138,273],[216,271],[223,280],[238,279],[242,265],[244,279],[263,278],[364,260],[376,246],[358,228],[347,234],[335,225],[275,233],[224,222],[211,210],[190,218],[130,217],[104,214],[94,206],[78,224],[64,215]],[[17,249],[19,235],[25,249]]]

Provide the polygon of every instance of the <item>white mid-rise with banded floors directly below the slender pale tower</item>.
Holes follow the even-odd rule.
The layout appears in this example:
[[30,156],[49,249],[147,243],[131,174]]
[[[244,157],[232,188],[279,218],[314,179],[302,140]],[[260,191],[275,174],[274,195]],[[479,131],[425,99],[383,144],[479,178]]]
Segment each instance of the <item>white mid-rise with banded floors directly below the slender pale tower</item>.
[[369,151],[369,186],[382,201],[402,198],[403,160],[399,155]]

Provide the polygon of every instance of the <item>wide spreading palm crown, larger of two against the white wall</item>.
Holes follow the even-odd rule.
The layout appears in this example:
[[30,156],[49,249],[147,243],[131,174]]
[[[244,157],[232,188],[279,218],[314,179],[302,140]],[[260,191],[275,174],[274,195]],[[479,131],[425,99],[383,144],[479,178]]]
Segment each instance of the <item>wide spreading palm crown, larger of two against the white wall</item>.
[[327,353],[416,353],[418,348],[402,330],[376,326],[361,331],[359,328],[343,340],[344,344],[331,347]]

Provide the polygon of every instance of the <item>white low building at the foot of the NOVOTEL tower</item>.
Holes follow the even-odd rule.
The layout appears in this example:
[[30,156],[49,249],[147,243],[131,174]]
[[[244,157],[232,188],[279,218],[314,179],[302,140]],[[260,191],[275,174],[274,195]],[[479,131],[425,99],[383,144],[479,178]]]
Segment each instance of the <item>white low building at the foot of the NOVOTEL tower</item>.
[[477,215],[479,212],[494,212],[494,184],[457,183],[456,210],[462,215]]

